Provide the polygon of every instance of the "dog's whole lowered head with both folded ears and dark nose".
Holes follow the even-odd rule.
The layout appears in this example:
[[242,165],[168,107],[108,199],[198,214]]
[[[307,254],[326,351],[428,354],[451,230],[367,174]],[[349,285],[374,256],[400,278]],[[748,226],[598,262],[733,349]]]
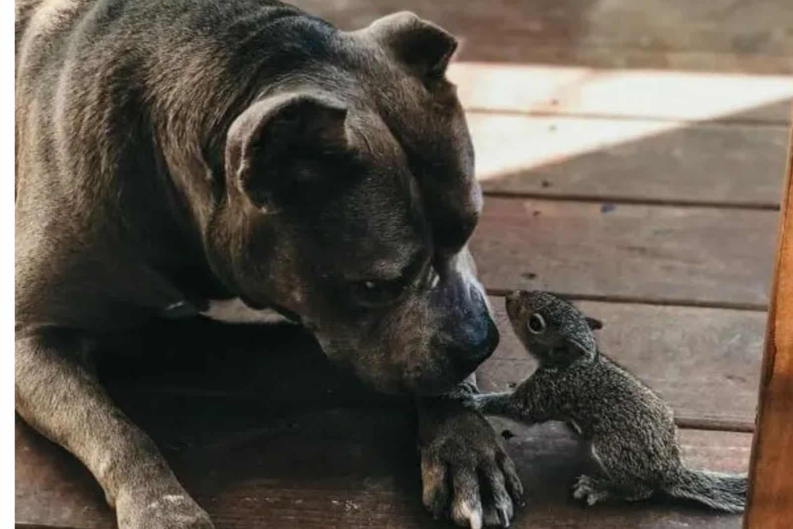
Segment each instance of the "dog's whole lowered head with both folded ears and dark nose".
[[397,13],[323,46],[228,131],[216,268],[377,389],[436,394],[498,342],[466,246],[482,198],[457,42]]

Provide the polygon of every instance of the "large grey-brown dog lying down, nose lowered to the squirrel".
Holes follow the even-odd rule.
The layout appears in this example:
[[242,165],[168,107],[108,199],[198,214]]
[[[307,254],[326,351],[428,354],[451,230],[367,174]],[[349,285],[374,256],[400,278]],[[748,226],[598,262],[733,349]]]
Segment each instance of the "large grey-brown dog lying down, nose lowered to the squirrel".
[[423,502],[506,525],[521,485],[472,384],[498,333],[457,42],[412,13],[343,32],[267,0],[17,0],[16,409],[122,529],[206,529],[95,378],[103,333],[204,314],[301,323],[419,405]]

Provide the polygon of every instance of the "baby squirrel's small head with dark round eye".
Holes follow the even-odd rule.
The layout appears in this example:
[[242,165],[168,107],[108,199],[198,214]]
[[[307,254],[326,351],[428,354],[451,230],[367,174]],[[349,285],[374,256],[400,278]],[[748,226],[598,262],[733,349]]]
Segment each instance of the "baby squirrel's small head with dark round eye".
[[603,323],[584,316],[573,303],[548,292],[515,291],[506,305],[515,334],[541,363],[566,365],[596,357],[592,331]]

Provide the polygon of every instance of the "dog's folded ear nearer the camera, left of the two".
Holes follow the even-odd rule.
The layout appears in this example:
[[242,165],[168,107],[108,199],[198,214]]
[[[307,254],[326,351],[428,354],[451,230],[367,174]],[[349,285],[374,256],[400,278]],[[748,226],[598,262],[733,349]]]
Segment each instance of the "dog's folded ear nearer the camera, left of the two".
[[227,181],[265,207],[266,195],[279,183],[266,173],[278,172],[279,161],[347,149],[346,121],[347,108],[324,94],[283,93],[256,101],[228,129]]

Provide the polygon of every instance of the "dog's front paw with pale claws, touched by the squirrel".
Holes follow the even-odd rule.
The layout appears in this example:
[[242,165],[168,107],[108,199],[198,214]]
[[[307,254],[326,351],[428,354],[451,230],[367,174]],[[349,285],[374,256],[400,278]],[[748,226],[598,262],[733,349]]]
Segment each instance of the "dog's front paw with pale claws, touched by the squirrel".
[[[472,375],[457,393],[475,388]],[[418,406],[424,505],[464,527],[507,527],[523,485],[500,436],[454,398],[422,398]]]

